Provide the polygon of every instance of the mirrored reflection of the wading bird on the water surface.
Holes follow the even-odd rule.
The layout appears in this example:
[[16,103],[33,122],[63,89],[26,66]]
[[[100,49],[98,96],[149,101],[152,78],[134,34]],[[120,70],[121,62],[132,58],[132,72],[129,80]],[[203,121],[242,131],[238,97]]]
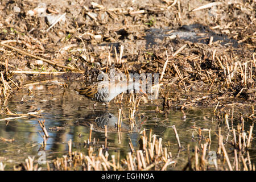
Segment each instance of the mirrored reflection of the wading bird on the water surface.
[[[109,111],[93,111],[93,113],[86,115],[79,121],[79,125],[90,127],[93,124],[93,130],[99,132],[105,132],[105,125],[108,127],[108,132],[115,132],[117,129],[118,118]],[[128,126],[122,123],[122,131],[128,130]]]

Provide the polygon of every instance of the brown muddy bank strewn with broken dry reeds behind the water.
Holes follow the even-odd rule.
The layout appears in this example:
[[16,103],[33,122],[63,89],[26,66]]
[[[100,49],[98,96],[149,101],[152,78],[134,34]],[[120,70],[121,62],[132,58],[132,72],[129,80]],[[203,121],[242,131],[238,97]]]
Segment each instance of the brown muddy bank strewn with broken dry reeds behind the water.
[[[208,90],[217,95],[231,92],[235,97],[243,88],[238,97],[253,102],[255,2],[222,2],[196,10],[207,3],[2,1],[2,43],[52,63],[2,46],[3,76],[10,82],[5,70],[68,71],[56,64],[85,72],[83,84],[97,81],[100,71],[108,74],[110,65],[119,72],[127,68],[129,72],[161,74],[167,53],[170,63],[164,71],[165,85],[184,93]],[[45,11],[36,14],[40,8]],[[60,15],[64,18],[47,31]],[[119,61],[121,45],[124,50]],[[39,81],[40,76],[13,76],[19,87],[31,79]],[[10,85],[15,88],[12,82]]]

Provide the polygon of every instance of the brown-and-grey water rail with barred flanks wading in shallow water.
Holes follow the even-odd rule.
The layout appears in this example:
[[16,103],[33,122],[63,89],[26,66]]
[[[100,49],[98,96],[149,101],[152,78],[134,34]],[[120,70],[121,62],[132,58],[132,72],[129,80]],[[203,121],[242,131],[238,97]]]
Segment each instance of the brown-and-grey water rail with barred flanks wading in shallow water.
[[147,95],[143,92],[141,84],[139,82],[132,81],[100,81],[95,84],[86,86],[81,89],[75,89],[79,94],[84,95],[90,100],[97,102],[104,102],[106,107],[108,103],[113,100],[114,97],[118,96],[120,93],[126,90],[139,90],[141,93]]

